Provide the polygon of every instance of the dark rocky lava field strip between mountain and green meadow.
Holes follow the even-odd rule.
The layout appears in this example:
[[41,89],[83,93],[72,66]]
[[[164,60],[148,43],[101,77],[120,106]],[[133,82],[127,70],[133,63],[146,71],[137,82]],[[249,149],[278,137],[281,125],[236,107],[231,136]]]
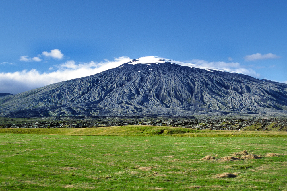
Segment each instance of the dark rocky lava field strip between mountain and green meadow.
[[58,118],[58,119],[37,119],[35,122],[1,122],[0,128],[89,128],[123,125],[157,125],[174,126],[193,129],[212,130],[276,130],[287,131],[287,118],[121,118],[121,117],[101,117],[95,118]]

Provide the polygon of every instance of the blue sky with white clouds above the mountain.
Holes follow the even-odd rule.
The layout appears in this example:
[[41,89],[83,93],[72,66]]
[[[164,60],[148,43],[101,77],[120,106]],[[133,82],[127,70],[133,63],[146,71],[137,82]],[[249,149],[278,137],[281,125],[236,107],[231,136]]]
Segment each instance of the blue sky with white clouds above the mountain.
[[159,56],[287,83],[287,1],[0,0],[0,92]]

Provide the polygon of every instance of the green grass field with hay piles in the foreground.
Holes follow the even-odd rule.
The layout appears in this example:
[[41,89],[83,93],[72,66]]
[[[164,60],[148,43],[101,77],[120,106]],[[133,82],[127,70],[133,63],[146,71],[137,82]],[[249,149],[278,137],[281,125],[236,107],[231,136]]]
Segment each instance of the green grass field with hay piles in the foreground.
[[[222,151],[233,132],[0,129],[0,190],[287,190],[286,133],[236,132]],[[220,160],[245,149],[260,158]]]

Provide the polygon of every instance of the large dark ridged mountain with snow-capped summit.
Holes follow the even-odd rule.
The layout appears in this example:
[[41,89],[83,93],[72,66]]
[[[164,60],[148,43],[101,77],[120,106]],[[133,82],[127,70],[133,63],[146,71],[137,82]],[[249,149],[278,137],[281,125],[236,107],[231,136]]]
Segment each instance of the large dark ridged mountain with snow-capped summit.
[[286,114],[287,84],[154,56],[0,98],[0,116]]

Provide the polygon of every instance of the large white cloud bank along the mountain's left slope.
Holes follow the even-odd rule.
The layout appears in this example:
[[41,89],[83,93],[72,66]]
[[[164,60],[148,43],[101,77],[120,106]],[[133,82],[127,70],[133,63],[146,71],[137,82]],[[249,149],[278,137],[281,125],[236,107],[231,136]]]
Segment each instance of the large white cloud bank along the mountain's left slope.
[[129,61],[131,59],[126,56],[115,58],[114,61],[105,60],[100,63],[94,61],[76,63],[71,60],[55,66],[57,70],[50,72],[40,73],[35,69],[13,73],[2,72],[0,73],[0,92],[16,94],[60,81],[94,75],[107,69],[118,67]]

